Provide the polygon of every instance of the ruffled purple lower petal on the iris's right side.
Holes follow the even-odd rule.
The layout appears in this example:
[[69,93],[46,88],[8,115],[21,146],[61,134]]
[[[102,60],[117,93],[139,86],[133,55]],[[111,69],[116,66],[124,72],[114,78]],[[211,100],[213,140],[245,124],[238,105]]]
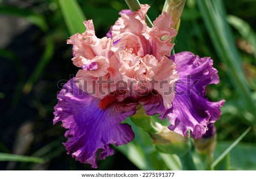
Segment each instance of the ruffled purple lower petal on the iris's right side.
[[184,136],[191,130],[191,137],[199,139],[206,133],[207,125],[221,116],[220,107],[225,100],[211,102],[205,97],[205,87],[219,83],[218,71],[212,67],[210,58],[199,58],[191,52],[177,53],[170,59],[177,65],[179,75],[172,107],[165,109],[160,95],[151,95],[140,102],[148,115],[159,113],[163,120],[168,117],[170,130]]

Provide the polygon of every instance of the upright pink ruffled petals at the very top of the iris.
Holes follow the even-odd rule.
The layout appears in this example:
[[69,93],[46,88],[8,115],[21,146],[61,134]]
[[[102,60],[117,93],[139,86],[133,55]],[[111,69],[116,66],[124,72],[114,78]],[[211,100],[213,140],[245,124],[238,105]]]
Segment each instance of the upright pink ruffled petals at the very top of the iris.
[[147,54],[154,55],[158,61],[163,56],[171,55],[174,46],[171,40],[177,35],[170,14],[163,12],[154,21],[154,27],[149,28],[145,23],[145,16],[149,5],[141,5],[137,12],[130,15],[122,14],[112,28],[112,38],[114,41],[120,40],[115,45],[115,51],[133,49],[133,53],[143,57]]

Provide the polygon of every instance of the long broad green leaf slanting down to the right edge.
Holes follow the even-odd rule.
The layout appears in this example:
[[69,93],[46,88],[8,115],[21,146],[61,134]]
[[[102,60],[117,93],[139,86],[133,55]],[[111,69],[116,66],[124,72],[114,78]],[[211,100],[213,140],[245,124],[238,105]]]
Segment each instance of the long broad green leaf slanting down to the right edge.
[[233,34],[226,21],[223,1],[197,0],[197,4],[218,57],[226,64],[233,86],[242,94],[243,107],[254,116],[254,120],[248,122],[256,124],[256,106],[241,67],[241,58]]

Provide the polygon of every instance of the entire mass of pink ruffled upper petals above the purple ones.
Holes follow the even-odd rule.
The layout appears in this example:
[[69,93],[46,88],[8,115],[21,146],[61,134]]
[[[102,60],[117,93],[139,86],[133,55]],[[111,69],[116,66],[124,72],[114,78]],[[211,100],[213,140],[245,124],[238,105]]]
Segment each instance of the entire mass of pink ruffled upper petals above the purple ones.
[[[166,55],[171,52],[170,41],[176,32],[170,28],[172,21],[167,13],[157,17],[155,26],[149,28],[145,23],[149,7],[141,5],[137,12],[121,12],[121,17],[113,26],[113,40],[106,37],[97,38],[92,20],[84,21],[86,32],[70,37],[67,43],[74,45],[73,64],[82,68],[76,75],[76,80],[81,82],[80,89],[85,92],[94,90],[94,97],[104,98],[120,89],[119,81],[129,84],[135,80],[134,88],[130,89],[129,86],[126,89],[134,98],[139,98],[134,91],[140,91],[140,87],[145,86],[148,91],[157,90],[163,96],[166,108],[172,106],[174,83],[178,75],[175,64],[166,58]],[[161,40],[164,35],[167,39]],[[93,69],[90,69],[92,63]],[[99,79],[107,81],[109,78],[113,84],[96,83]],[[163,85],[156,84],[151,87],[150,81],[153,78],[165,82]],[[166,95],[166,91],[171,92]]]

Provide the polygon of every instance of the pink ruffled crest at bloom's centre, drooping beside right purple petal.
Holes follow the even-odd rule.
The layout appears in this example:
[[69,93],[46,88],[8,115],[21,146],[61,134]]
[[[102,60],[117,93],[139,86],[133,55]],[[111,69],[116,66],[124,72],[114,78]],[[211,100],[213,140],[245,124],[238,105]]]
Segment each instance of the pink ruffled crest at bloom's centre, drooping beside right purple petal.
[[[166,108],[172,106],[175,82],[178,80],[176,65],[172,60],[165,57],[159,62],[153,55],[145,55],[140,58],[131,54],[131,50],[119,52],[118,58],[121,62],[119,68],[121,74],[138,81],[138,84],[145,81],[144,86],[149,91],[156,90],[160,93]],[[155,81],[155,84],[152,84],[152,81]]]

